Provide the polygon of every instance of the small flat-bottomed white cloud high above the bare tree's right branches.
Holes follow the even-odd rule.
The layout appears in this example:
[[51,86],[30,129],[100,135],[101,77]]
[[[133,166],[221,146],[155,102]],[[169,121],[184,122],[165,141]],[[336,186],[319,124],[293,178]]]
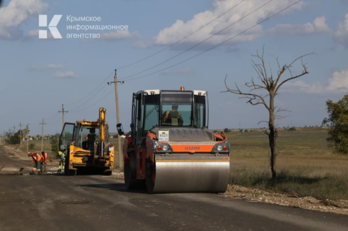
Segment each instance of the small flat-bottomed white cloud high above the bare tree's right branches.
[[330,28],[325,23],[326,17],[318,17],[313,23],[306,24],[277,24],[274,27],[268,29],[266,32],[271,34],[282,35],[306,35],[316,33],[328,33]]

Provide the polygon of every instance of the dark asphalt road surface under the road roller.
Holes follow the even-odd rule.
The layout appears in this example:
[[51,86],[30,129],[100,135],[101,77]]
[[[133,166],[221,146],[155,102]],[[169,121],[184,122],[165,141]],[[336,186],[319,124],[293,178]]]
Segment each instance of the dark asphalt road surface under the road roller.
[[[13,160],[0,148],[0,165]],[[348,230],[347,216],[329,212],[218,194],[126,192],[123,179],[111,177],[14,173],[0,175],[1,231]]]

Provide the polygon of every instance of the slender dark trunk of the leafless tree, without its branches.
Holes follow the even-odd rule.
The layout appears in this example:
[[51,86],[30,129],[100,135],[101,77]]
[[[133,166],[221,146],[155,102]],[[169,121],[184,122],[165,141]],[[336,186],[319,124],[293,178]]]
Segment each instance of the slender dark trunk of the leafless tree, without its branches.
[[274,128],[274,96],[270,95],[269,97],[269,122],[268,122],[268,128],[269,128],[269,147],[271,149],[271,158],[270,158],[270,165],[271,165],[271,171],[272,171],[272,179],[275,179],[277,177],[277,171],[275,168],[275,157],[276,157],[276,144],[275,139],[277,137],[277,131]]

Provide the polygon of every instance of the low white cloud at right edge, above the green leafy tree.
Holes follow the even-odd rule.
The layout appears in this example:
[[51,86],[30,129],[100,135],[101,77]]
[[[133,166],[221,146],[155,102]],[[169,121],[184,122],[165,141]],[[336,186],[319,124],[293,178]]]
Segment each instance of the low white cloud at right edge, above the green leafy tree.
[[348,69],[332,74],[326,86],[321,83],[307,84],[302,80],[286,82],[280,87],[282,92],[305,92],[309,94],[348,93]]

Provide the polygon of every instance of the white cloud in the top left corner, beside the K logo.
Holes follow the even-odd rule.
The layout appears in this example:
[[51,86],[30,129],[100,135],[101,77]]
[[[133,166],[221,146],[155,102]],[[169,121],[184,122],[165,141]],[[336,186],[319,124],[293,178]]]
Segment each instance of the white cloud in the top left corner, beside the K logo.
[[23,37],[19,25],[44,12],[47,6],[43,0],[12,0],[7,7],[0,8],[0,39],[16,40]]

